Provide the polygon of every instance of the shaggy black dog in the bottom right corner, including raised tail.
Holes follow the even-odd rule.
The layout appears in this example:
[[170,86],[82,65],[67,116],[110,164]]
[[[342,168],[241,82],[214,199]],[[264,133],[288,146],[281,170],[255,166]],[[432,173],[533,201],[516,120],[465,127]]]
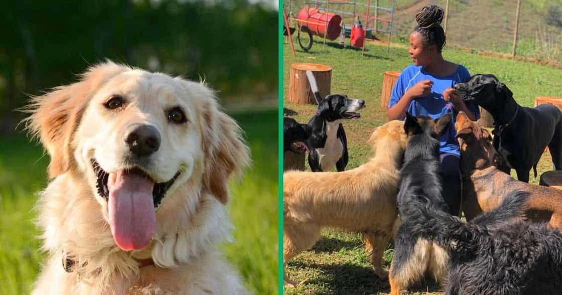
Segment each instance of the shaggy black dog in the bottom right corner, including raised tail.
[[469,223],[411,198],[413,233],[451,256],[446,294],[562,294],[562,234],[518,218],[528,193],[514,192]]

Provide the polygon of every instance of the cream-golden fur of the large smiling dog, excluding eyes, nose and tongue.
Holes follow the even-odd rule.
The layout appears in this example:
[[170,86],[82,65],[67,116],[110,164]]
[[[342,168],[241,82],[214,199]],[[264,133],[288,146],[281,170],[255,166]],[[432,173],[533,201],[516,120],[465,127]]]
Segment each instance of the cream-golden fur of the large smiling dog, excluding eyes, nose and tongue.
[[[123,104],[108,109],[115,97]],[[248,148],[212,90],[107,61],[33,101],[27,123],[51,157],[52,178],[38,202],[50,258],[33,294],[247,293],[217,244],[232,228],[227,181],[250,161]],[[174,107],[185,113],[183,124],[171,121]],[[161,138],[149,156],[132,155],[125,142],[135,124]],[[155,200],[148,246],[124,251],[110,226],[111,192],[107,201],[97,185],[99,173],[113,178],[134,169],[145,181],[175,181],[160,206]],[[111,186],[107,178],[101,181]]]

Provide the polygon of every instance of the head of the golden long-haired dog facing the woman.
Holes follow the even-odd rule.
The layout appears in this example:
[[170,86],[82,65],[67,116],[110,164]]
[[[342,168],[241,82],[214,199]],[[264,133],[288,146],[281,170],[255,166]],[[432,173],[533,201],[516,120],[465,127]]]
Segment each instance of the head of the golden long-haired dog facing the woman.
[[407,142],[404,122],[400,120],[389,121],[377,127],[368,140],[377,156],[384,153],[384,157],[393,158],[396,162],[401,162]]

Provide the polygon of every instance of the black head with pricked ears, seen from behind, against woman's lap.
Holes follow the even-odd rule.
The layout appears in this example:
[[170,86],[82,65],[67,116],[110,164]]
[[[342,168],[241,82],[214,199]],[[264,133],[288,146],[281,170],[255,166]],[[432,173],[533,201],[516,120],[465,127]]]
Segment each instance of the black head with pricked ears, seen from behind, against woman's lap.
[[425,134],[438,140],[447,131],[450,124],[451,114],[446,114],[439,117],[439,119],[433,120],[427,116],[414,117],[409,112],[406,112],[404,131],[408,137]]

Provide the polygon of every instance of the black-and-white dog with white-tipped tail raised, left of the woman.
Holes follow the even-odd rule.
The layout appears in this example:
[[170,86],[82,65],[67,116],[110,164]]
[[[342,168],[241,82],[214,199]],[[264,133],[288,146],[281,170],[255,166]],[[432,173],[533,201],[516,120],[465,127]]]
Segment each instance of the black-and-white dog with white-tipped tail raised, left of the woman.
[[336,165],[338,171],[347,166],[347,139],[342,121],[358,119],[359,111],[365,107],[361,99],[349,99],[342,94],[320,97],[316,79],[311,71],[306,71],[310,88],[314,92],[318,109],[308,125],[311,132],[306,145],[310,148],[309,166],[313,172],[328,171]]

